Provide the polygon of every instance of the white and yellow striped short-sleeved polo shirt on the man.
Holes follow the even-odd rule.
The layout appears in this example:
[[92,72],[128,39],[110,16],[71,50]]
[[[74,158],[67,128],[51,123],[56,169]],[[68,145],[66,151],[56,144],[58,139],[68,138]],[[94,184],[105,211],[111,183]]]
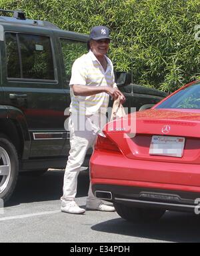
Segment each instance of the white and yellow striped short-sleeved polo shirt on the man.
[[[106,71],[92,51],[76,59],[71,69],[69,85],[116,87],[113,64],[107,56],[105,57],[107,59]],[[87,97],[75,96],[71,88],[70,94],[71,105],[69,111],[71,113],[93,115],[99,111],[101,111],[101,113],[106,113],[107,111],[109,103],[109,95],[107,93],[98,93]]]

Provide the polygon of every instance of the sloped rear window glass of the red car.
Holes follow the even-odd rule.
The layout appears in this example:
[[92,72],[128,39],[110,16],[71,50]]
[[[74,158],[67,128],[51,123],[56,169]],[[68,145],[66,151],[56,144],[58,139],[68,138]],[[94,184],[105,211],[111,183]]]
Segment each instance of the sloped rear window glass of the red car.
[[175,93],[156,109],[200,109],[200,83]]

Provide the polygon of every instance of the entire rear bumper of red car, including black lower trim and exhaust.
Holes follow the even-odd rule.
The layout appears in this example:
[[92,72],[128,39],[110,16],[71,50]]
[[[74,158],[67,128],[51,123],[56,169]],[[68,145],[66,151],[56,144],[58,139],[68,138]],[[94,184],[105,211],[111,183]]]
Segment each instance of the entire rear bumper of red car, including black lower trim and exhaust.
[[119,153],[94,152],[90,170],[93,193],[107,201],[189,212],[200,203],[199,165],[139,161]]

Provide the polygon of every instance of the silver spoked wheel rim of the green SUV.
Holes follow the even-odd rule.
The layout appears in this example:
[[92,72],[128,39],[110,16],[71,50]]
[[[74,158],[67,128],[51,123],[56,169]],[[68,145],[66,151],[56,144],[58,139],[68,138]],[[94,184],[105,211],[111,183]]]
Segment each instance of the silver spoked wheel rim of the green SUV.
[[11,160],[3,147],[0,147],[0,193],[2,193],[9,183],[11,177]]

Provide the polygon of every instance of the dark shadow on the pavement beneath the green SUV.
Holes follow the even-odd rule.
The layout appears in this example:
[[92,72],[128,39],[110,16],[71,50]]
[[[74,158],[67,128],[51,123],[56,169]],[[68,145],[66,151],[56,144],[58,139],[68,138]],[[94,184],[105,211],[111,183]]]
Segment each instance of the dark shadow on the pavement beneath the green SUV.
[[[19,175],[17,186],[6,207],[20,203],[59,200],[63,193],[64,171],[47,171],[41,177]],[[87,196],[89,175],[81,171],[78,177],[77,197]]]

